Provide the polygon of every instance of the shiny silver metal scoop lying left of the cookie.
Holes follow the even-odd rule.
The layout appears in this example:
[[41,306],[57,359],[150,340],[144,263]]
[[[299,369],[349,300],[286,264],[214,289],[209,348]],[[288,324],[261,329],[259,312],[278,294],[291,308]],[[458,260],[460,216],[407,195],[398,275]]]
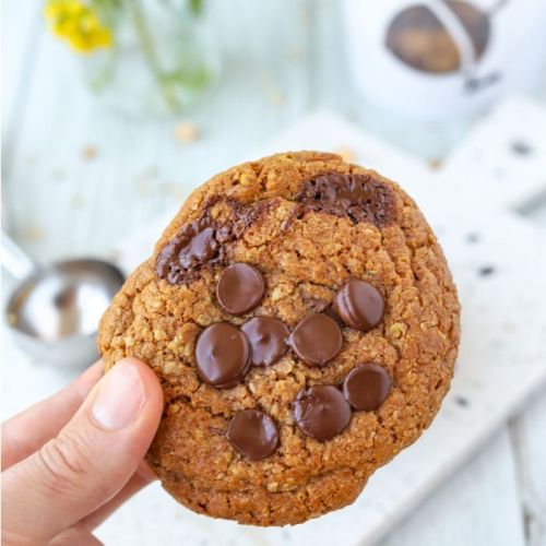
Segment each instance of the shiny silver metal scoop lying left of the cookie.
[[15,341],[38,361],[56,366],[95,360],[98,321],[123,284],[121,271],[87,258],[41,268],[3,232],[0,258],[19,281],[5,307]]

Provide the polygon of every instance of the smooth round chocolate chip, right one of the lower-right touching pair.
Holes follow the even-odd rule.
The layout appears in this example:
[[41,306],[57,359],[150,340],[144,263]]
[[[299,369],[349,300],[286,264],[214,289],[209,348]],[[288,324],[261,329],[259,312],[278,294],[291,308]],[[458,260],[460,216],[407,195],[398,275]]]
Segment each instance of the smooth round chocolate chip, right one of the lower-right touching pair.
[[383,402],[391,389],[389,373],[377,364],[363,364],[349,371],[343,394],[355,410],[371,412]]

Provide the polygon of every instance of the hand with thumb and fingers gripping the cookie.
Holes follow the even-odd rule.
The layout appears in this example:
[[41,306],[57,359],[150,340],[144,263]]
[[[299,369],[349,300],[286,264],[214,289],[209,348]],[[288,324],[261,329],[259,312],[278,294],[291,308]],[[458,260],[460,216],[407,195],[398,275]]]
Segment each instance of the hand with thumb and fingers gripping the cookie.
[[155,479],[143,461],[163,392],[142,361],[99,361],[2,425],[2,544],[96,545],[93,530]]

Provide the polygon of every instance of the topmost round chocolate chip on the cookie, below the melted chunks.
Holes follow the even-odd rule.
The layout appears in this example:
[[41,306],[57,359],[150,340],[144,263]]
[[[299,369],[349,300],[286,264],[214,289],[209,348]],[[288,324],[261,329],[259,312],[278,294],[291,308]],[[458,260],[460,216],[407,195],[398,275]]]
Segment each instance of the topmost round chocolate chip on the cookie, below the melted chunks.
[[232,314],[244,314],[263,298],[265,282],[262,274],[248,263],[234,263],[224,270],[216,285],[222,308]]

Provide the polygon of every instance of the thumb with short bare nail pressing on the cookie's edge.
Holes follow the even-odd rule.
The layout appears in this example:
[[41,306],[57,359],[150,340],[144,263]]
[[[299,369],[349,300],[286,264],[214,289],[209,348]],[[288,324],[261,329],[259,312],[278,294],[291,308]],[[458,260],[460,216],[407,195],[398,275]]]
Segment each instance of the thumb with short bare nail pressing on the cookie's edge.
[[116,364],[57,438],[2,473],[4,536],[47,542],[107,502],[142,461],[162,410],[154,372]]

